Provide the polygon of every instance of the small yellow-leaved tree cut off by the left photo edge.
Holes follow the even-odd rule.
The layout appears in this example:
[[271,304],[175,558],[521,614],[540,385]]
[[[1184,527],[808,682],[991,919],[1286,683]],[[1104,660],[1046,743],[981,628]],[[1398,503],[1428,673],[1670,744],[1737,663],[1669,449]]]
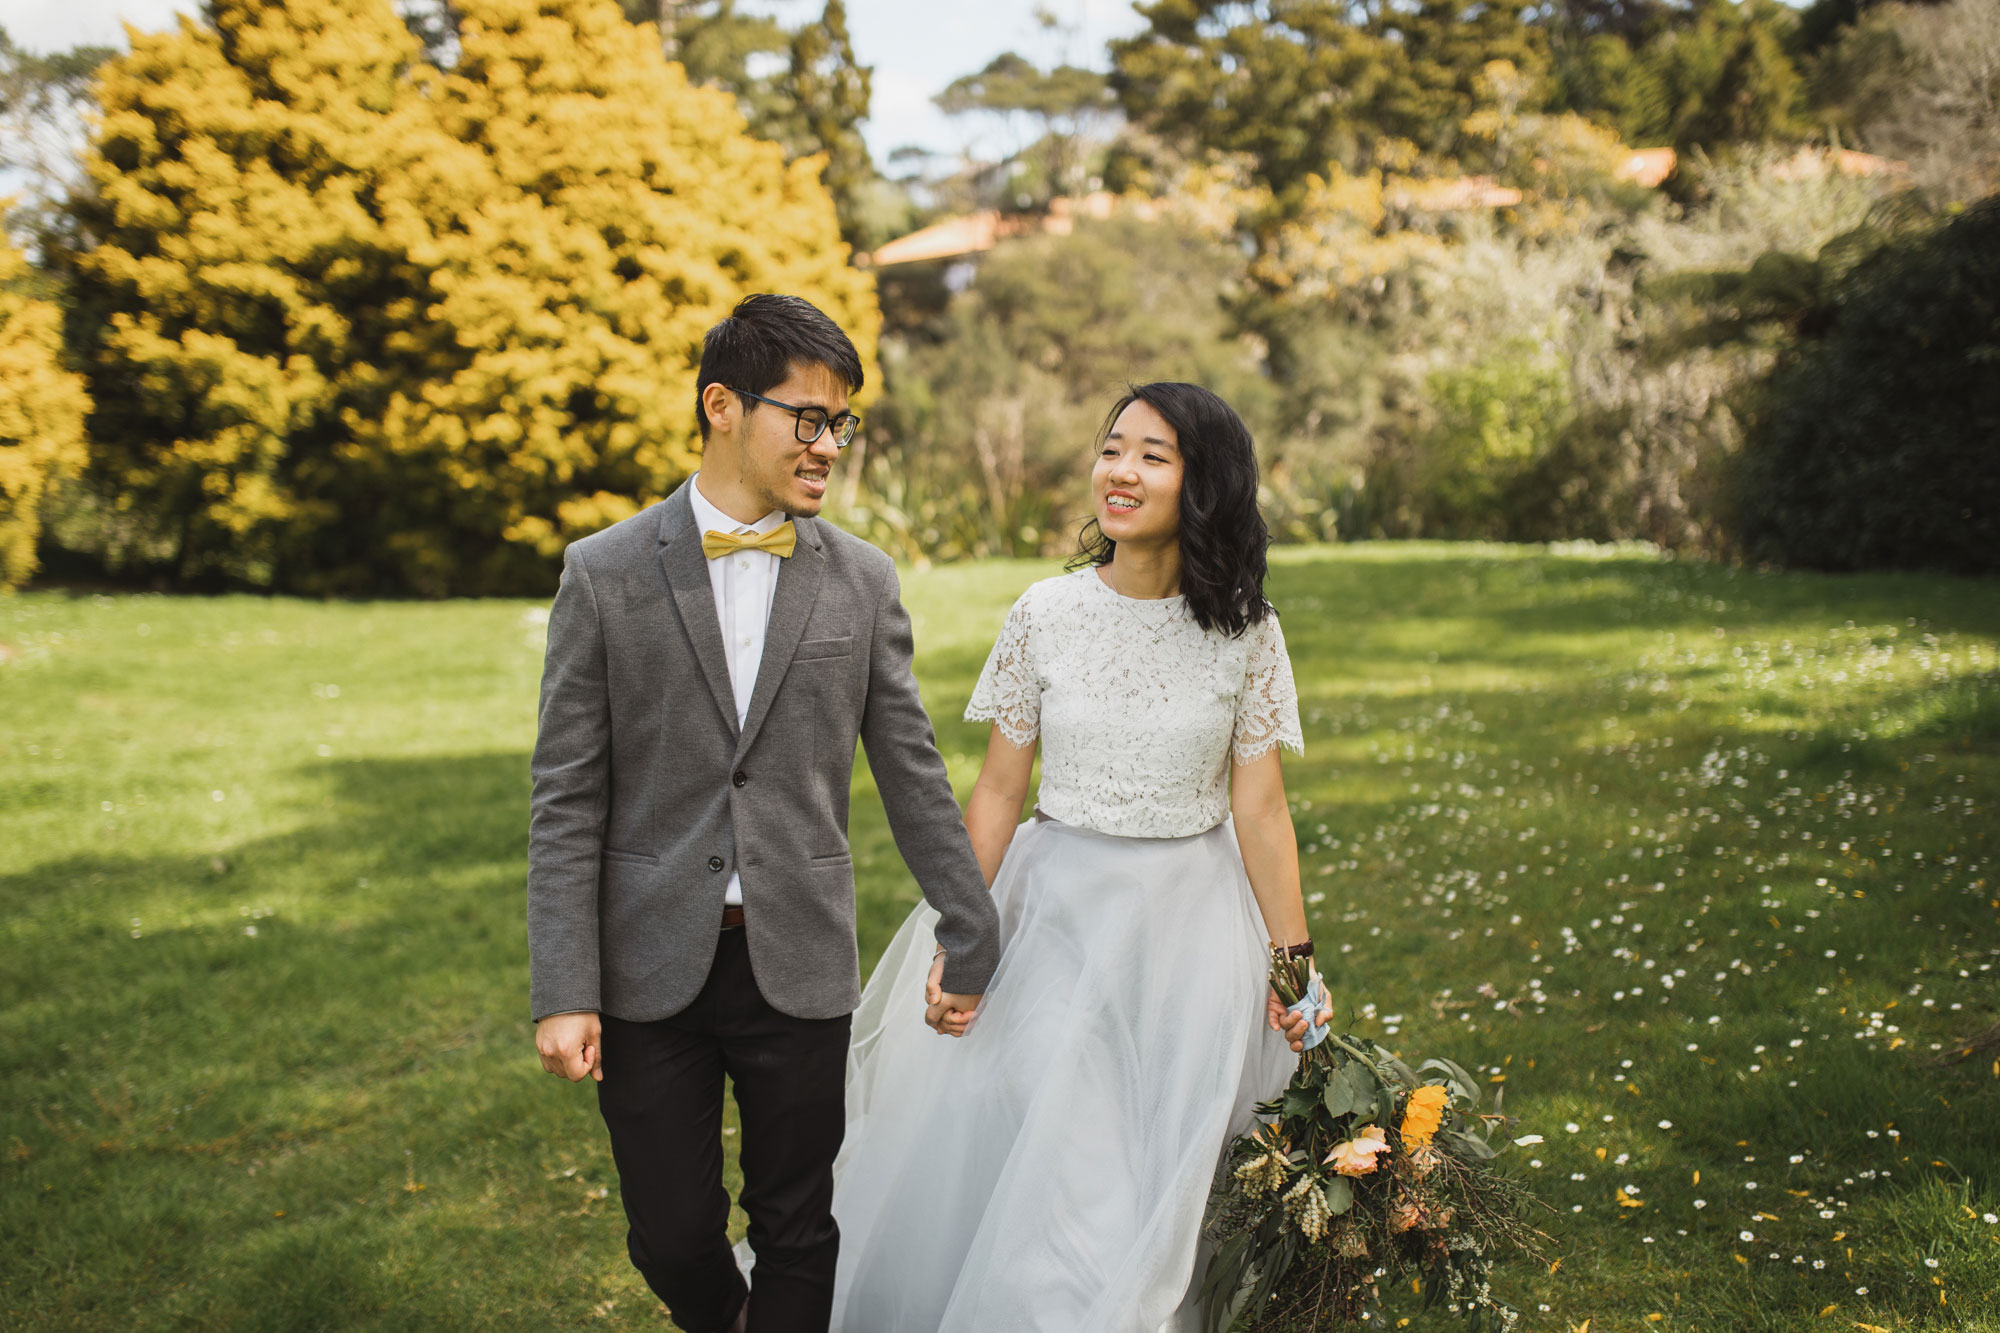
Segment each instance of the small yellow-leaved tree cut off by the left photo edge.
[[28,266],[0,236],[0,590],[34,572],[50,478],[84,460],[84,382],[62,368],[62,312],[22,290]]

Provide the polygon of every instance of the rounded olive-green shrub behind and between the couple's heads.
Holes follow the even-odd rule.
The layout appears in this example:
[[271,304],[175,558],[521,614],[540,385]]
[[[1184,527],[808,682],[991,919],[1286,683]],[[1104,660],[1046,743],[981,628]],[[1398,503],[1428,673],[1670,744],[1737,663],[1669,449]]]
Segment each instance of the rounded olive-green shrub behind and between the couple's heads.
[[1268,420],[1258,344],[1224,304],[1242,270],[1212,236],[1128,212],[996,246],[938,314],[884,338],[888,396],[842,462],[864,490],[838,518],[908,558],[1072,548],[1128,382],[1194,380]]

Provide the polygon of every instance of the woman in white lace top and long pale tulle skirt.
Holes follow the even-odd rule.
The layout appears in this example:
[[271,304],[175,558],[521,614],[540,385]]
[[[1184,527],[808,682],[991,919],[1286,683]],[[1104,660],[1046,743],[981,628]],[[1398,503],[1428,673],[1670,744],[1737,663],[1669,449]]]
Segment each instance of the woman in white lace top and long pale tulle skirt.
[[[1278,747],[1302,751],[1298,701],[1256,484],[1226,402],[1134,388],[1092,470],[1078,566],[1008,612],[966,709],[992,723],[966,829],[1000,971],[974,1013],[946,1009],[936,913],[918,905],[862,995],[834,1329],[1192,1327],[1222,1149],[1306,1031],[1266,983],[1270,943],[1312,945],[1278,767]],[[902,999],[920,983],[926,1015]]]

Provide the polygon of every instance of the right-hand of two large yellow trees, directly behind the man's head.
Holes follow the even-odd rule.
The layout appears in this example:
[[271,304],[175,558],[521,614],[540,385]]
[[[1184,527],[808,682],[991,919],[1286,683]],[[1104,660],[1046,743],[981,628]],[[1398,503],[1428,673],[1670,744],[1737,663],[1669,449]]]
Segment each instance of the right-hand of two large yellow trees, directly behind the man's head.
[[806,296],[864,352],[878,314],[820,160],[748,138],[652,28],[610,0],[458,10],[434,130],[382,182],[424,302],[384,410],[346,424],[406,584],[536,586],[694,468],[700,338],[746,292]]

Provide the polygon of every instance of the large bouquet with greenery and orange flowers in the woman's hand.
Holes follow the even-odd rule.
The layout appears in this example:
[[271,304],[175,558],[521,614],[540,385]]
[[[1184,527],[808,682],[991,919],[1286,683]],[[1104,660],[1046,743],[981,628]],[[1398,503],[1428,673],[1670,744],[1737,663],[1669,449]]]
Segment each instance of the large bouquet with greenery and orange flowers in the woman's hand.
[[[1294,1005],[1312,975],[1274,949],[1270,981]],[[1384,1283],[1412,1277],[1426,1305],[1512,1329],[1518,1313],[1488,1283],[1494,1259],[1538,1255],[1546,1237],[1522,1219],[1528,1189],[1492,1167],[1514,1123],[1478,1105],[1478,1083],[1452,1061],[1412,1071],[1338,1033],[1310,1047],[1216,1175],[1204,1331],[1378,1321]]]

